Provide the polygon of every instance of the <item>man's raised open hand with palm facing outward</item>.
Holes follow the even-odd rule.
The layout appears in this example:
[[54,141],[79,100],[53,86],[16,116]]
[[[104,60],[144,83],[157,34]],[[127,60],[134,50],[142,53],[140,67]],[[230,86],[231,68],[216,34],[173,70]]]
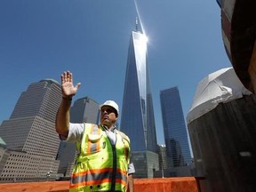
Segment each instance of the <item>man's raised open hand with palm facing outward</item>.
[[74,86],[72,73],[70,71],[64,71],[61,75],[62,97],[72,99],[80,85],[81,83],[78,83]]

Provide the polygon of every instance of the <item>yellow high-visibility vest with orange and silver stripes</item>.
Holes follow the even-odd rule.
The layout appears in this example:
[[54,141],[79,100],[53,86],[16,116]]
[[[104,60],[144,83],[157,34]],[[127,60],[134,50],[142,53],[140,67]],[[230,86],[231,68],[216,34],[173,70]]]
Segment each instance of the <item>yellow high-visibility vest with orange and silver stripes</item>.
[[85,124],[80,151],[76,158],[69,191],[126,191],[130,140],[116,131],[116,145],[112,145],[102,125]]

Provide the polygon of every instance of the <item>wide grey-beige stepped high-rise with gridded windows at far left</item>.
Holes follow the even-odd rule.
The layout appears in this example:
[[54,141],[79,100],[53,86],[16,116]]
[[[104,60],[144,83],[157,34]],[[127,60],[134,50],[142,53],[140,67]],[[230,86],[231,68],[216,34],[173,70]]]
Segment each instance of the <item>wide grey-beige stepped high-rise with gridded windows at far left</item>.
[[0,126],[8,148],[3,150],[5,157],[1,160],[2,179],[41,180],[47,172],[56,176],[60,139],[55,116],[60,101],[60,84],[52,79],[30,84],[21,93],[12,116]]

